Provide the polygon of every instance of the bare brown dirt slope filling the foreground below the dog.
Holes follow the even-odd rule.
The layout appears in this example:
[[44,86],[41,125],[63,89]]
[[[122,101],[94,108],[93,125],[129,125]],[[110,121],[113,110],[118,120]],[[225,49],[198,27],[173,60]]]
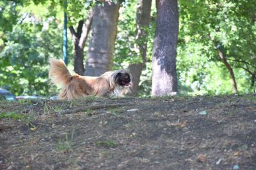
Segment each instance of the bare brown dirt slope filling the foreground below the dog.
[[256,95],[0,103],[0,169],[256,169]]

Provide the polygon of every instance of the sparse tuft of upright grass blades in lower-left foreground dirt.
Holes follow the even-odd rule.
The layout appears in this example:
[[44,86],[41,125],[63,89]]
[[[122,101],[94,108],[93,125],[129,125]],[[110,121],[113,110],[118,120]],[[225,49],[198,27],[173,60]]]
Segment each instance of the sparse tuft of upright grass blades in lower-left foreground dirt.
[[65,139],[59,139],[56,149],[60,152],[67,153],[72,152],[72,146],[74,145],[74,130],[72,131],[70,140],[68,139],[68,134],[66,133]]

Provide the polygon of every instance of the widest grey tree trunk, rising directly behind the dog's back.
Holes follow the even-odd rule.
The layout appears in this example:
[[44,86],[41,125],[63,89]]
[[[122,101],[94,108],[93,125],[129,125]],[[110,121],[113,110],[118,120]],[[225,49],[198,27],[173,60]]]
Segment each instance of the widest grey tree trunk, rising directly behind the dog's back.
[[86,76],[99,76],[112,70],[119,7],[119,3],[109,2],[104,6],[95,6],[84,72]]

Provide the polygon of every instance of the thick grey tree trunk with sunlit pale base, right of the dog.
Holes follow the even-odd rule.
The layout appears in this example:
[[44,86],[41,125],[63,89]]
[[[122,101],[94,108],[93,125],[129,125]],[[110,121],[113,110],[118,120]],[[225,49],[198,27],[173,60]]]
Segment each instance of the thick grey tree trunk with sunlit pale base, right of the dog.
[[173,95],[178,91],[176,46],[179,32],[177,0],[156,0],[157,25],[152,59],[152,95]]

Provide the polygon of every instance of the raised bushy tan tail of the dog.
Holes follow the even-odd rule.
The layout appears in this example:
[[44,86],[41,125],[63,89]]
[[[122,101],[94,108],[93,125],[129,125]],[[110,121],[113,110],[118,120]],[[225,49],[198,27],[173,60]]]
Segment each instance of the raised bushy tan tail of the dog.
[[72,75],[63,60],[49,59],[49,78],[54,85],[67,85],[72,80]]

